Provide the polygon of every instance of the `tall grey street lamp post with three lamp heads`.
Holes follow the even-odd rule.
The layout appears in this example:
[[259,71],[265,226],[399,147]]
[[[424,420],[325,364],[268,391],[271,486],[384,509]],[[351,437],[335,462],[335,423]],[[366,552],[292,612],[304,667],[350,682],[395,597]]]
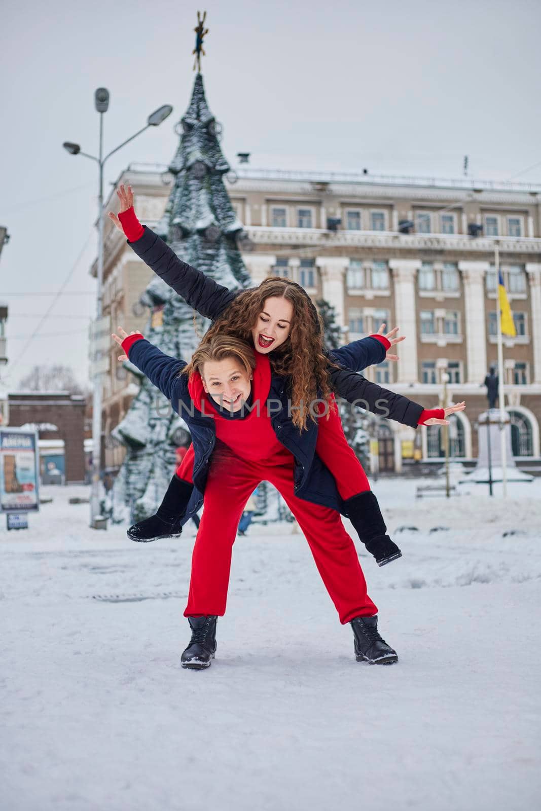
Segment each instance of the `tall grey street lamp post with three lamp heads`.
[[[88,155],[87,152],[81,152],[79,144],[72,144],[70,141],[65,141],[62,146],[71,155],[83,155],[89,157],[92,161],[96,161],[99,167],[99,191],[98,191],[98,242],[97,242],[97,307],[96,307],[96,328],[94,335],[100,328],[100,321],[102,316],[102,284],[103,284],[103,167],[105,161],[118,152],[126,144],[129,144],[134,138],[148,129],[148,127],[158,127],[161,122],[165,121],[172,112],[171,105],[163,105],[150,114],[147,118],[145,127],[135,132],[130,138],[122,141],[118,147],[114,148],[109,154],[103,157],[103,114],[109,108],[109,90],[107,88],[97,88],[94,93],[94,105],[97,112],[100,114],[100,152],[99,157]],[[94,374],[93,386],[94,392],[92,397],[92,494],[90,497],[90,526],[97,529],[100,522],[97,520],[100,514],[100,469],[101,469],[101,370],[97,366],[96,358],[94,359]]]

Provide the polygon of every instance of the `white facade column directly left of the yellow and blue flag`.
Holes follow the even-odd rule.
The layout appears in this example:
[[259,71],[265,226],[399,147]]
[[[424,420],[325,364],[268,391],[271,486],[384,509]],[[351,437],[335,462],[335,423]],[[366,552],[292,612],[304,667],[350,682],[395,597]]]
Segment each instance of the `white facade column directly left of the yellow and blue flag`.
[[489,267],[489,262],[458,263],[464,281],[467,383],[483,383],[487,374],[484,277]]

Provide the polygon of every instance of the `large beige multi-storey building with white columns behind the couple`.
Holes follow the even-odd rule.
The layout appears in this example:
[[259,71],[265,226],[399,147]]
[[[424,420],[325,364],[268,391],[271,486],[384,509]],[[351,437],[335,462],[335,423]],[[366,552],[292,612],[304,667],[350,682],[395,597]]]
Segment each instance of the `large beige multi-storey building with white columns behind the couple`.
[[[170,191],[165,169],[132,165],[120,178],[134,187],[136,211],[151,227]],[[422,405],[438,405],[442,375],[449,374],[450,400],[467,406],[453,418],[452,453],[466,462],[477,456],[476,419],[487,407],[483,380],[496,364],[497,241],[517,330],[504,346],[513,454],[523,470],[541,470],[541,187],[249,167],[235,169],[226,183],[245,226],[243,258],[255,284],[269,274],[286,276],[314,300],[326,299],[344,342],[376,332],[382,322],[398,325],[406,335],[399,361],[371,367],[367,376]],[[114,324],[144,327],[148,313],[137,300],[151,277],[110,230],[104,307]],[[114,350],[111,357],[106,435],[135,391]],[[401,470],[414,451],[427,464],[439,463],[439,430],[381,420],[380,470]],[[122,448],[106,450],[107,465],[121,460]]]

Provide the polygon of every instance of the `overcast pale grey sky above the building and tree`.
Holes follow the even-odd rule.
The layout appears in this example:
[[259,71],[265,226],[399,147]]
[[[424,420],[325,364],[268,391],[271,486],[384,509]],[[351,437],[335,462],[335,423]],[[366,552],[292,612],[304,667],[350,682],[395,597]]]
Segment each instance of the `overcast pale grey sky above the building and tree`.
[[[205,7],[205,87],[232,166],[247,151],[254,167],[460,177],[467,154],[477,178],[539,164],[517,180],[541,183],[539,0]],[[194,78],[196,11],[184,0],[2,4],[0,224],[11,242],[0,298],[11,363],[0,371],[11,389],[35,363],[66,363],[87,380],[97,167],[62,142],[97,152],[93,92],[105,85],[107,151],[174,106],[111,159],[106,193],[131,161],[170,161]],[[38,295],[68,277],[56,301]]]

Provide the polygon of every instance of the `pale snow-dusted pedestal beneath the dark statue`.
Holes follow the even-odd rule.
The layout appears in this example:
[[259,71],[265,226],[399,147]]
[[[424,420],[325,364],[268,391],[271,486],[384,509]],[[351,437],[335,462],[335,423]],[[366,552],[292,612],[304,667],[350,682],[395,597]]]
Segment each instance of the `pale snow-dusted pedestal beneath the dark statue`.
[[505,478],[508,482],[532,482],[533,476],[518,470],[513,459],[511,444],[511,422],[509,414],[505,414],[504,427],[500,428],[500,409],[489,409],[479,414],[479,457],[477,467],[472,473],[462,479],[462,482],[487,484],[489,481],[488,448],[490,444],[490,457],[492,466],[492,482],[503,481],[504,470],[501,458],[501,431],[505,432]]

